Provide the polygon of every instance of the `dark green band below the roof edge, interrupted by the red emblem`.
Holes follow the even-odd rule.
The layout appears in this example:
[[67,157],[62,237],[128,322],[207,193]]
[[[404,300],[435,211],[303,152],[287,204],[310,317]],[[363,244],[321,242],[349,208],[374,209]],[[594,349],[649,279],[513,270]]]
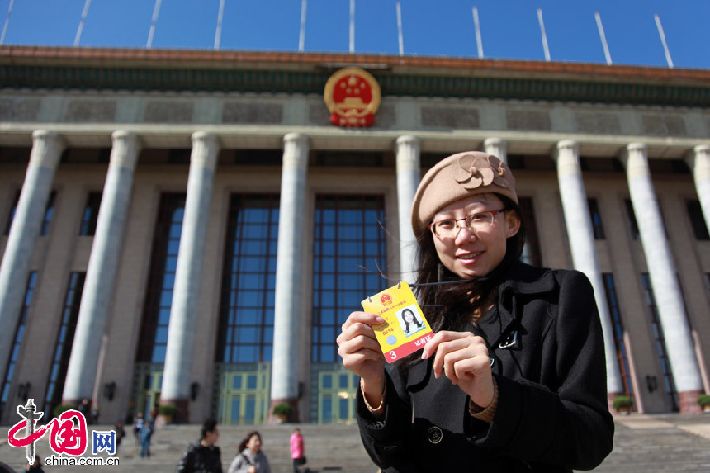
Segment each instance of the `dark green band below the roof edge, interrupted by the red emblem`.
[[[321,94],[330,72],[263,69],[0,66],[4,88],[160,92]],[[373,71],[382,95],[495,98],[619,104],[710,106],[710,85],[601,82],[545,78],[461,77]]]

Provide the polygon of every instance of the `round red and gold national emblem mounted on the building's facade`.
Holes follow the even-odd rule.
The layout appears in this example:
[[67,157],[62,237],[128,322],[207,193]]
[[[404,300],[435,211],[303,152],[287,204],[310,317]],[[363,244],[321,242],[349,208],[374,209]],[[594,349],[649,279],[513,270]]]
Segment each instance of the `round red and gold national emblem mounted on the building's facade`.
[[372,126],[380,106],[380,85],[359,67],[346,67],[330,76],[323,100],[333,125]]

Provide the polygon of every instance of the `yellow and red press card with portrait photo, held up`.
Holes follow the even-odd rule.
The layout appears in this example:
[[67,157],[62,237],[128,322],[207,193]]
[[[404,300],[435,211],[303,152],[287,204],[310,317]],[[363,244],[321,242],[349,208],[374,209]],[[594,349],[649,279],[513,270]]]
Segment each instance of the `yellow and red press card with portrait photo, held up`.
[[373,329],[388,363],[414,353],[432,337],[429,322],[405,281],[363,300],[362,308],[385,319]]

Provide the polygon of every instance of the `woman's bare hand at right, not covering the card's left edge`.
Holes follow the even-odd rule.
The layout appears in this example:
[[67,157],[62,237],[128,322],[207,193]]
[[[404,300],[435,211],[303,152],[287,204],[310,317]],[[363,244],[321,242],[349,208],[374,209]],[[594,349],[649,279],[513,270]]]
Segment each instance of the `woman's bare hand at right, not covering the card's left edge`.
[[485,408],[493,401],[493,374],[488,348],[483,338],[470,332],[443,330],[424,345],[422,358],[434,356],[434,376],[443,373],[478,406]]

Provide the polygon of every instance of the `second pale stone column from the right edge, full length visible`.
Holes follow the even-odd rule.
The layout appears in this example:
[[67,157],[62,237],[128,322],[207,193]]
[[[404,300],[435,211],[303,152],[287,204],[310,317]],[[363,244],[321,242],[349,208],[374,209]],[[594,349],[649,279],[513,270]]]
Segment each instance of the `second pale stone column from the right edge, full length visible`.
[[627,146],[624,158],[631,202],[638,222],[646,266],[656,297],[666,350],[673,370],[681,412],[699,412],[702,389],[700,371],[693,353],[693,339],[685,317],[683,298],[670,246],[666,240],[656,192],[651,182],[646,145]]

